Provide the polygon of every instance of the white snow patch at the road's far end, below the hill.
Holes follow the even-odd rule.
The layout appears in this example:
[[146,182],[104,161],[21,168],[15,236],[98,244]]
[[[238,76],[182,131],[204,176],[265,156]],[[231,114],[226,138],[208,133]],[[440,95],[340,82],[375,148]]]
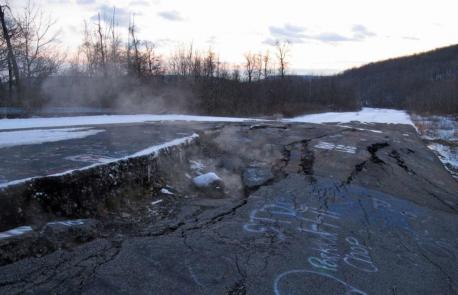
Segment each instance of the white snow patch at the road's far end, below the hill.
[[361,123],[407,124],[414,126],[410,116],[405,111],[376,108],[363,108],[359,112],[311,114],[285,119],[285,121],[305,123],[349,123],[351,121],[359,121]]

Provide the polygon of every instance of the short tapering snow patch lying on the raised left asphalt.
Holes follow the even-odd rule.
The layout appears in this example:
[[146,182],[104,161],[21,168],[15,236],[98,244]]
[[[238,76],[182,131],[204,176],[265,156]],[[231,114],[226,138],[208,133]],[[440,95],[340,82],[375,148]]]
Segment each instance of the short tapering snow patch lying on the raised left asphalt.
[[104,130],[90,128],[35,129],[0,132],[0,148],[85,138]]

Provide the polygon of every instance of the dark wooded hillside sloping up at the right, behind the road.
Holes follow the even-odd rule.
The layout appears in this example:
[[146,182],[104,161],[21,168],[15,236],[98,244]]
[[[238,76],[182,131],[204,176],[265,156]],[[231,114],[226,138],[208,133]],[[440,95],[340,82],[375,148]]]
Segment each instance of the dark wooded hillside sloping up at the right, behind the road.
[[370,63],[338,77],[365,106],[458,113],[458,45]]

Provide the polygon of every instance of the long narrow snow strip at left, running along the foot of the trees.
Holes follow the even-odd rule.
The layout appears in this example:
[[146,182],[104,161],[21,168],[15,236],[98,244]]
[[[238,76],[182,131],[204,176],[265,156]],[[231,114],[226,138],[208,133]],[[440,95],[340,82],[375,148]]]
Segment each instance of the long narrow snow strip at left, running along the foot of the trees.
[[211,117],[190,115],[104,115],[28,119],[1,119],[0,130],[47,127],[92,126],[106,124],[143,123],[157,121],[244,122],[250,118]]

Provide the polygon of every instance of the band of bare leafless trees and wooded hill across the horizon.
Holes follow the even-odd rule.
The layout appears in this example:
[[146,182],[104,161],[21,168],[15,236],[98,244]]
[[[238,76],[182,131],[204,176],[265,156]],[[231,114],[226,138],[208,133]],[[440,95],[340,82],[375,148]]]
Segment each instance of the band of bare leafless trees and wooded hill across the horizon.
[[21,11],[2,5],[0,17],[3,107],[286,116],[361,105],[458,111],[456,48],[445,59],[423,57],[425,67],[434,62],[434,72],[411,67],[417,64],[411,57],[410,64],[400,59],[334,76],[299,76],[290,74],[286,40],[265,52],[247,48],[240,65],[192,44],[161,55],[153,42],[138,38],[133,18],[123,32],[113,8],[108,17],[81,20],[78,53],[66,54],[56,49],[59,33],[53,17],[33,3]]

